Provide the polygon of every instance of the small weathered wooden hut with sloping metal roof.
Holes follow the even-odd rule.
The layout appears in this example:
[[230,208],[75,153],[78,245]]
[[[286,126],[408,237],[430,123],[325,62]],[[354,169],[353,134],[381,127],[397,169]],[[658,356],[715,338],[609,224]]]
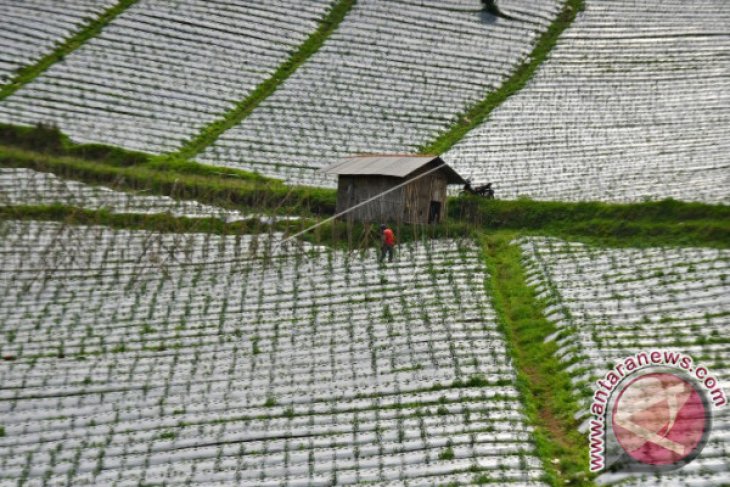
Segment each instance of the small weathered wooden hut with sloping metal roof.
[[322,171],[338,176],[337,213],[385,193],[345,216],[365,222],[441,222],[446,186],[465,183],[438,156],[348,157]]

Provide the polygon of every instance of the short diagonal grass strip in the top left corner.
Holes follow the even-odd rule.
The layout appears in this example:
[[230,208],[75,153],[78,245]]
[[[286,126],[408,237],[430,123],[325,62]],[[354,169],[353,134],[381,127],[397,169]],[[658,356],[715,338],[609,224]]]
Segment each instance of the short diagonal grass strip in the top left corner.
[[137,3],[137,0],[119,0],[116,5],[107,9],[99,17],[91,20],[81,30],[76,32],[76,34],[61,42],[53,51],[40,58],[34,64],[24,66],[18,70],[15,78],[9,84],[0,88],[0,100],[4,100],[24,85],[33,81],[53,64],[63,61],[66,56],[81,47],[92,37],[98,35],[107,24],[135,3]]

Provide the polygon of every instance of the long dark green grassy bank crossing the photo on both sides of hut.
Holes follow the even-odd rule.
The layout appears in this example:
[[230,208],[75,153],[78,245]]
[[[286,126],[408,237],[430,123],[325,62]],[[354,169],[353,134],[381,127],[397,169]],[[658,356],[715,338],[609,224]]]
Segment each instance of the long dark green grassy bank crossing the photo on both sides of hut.
[[[152,157],[101,145],[74,144],[47,127],[0,125],[0,166],[26,167],[88,184],[119,190],[195,199],[224,208],[299,216],[334,213],[336,193],[330,189],[287,186],[258,174]],[[448,223],[402,225],[407,239],[456,236],[472,229],[511,229],[531,234],[580,239],[610,246],[682,245],[730,246],[730,206],[687,203],[671,199],[631,204],[549,202],[450,198]],[[379,222],[375,222],[379,223]],[[346,228],[346,230],[342,230]],[[339,235],[332,238],[332,232]],[[323,235],[329,234],[327,237]],[[372,225],[325,224],[307,239],[329,240],[358,248]],[[341,238],[345,238],[344,241]]]

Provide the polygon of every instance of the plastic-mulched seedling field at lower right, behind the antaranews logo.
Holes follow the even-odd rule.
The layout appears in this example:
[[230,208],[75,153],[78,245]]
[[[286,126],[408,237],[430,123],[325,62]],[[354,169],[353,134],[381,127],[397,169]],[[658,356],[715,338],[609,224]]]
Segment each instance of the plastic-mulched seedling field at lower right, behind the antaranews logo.
[[[730,251],[607,249],[551,238],[519,241],[529,283],[548,302],[559,357],[587,416],[594,381],[653,349],[689,354],[730,392]],[[635,485],[719,485],[730,475],[730,415],[716,411],[710,441],[679,472]],[[602,481],[622,480],[605,475]]]

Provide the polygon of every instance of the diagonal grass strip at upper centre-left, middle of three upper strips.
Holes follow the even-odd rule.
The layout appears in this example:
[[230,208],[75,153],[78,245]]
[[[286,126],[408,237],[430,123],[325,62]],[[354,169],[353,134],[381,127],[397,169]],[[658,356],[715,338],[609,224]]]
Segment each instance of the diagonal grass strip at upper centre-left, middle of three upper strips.
[[187,141],[172,154],[172,157],[190,159],[215,142],[223,132],[239,124],[322,47],[322,44],[337,29],[355,3],[356,0],[339,0],[322,19],[317,30],[277,68],[274,74],[259,84],[250,95],[239,101],[220,119],[205,126],[195,138]]

